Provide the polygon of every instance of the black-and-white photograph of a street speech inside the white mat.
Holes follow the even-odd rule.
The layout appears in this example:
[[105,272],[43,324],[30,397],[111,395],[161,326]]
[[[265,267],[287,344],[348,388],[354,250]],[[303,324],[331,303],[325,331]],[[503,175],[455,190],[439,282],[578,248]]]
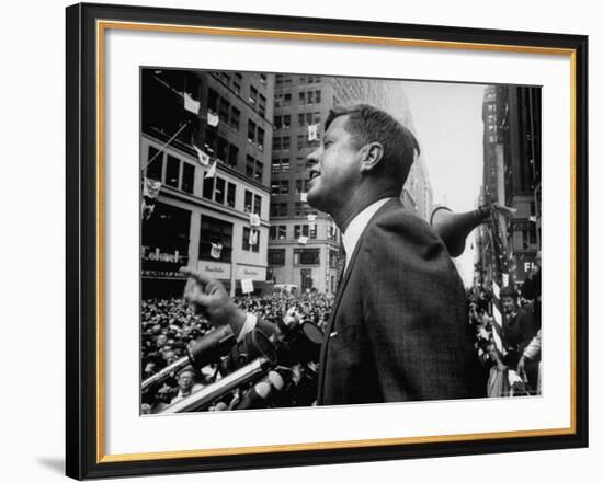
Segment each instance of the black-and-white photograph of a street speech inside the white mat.
[[541,118],[541,85],[141,67],[140,414],[542,396]]

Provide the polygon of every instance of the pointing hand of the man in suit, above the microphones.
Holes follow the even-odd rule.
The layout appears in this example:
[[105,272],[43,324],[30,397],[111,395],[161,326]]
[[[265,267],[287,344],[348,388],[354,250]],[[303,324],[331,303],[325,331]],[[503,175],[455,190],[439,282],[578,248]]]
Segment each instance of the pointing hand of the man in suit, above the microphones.
[[237,334],[246,320],[246,312],[232,301],[224,285],[190,267],[180,272],[189,276],[184,299],[193,306],[195,314],[202,313],[214,326],[230,324]]

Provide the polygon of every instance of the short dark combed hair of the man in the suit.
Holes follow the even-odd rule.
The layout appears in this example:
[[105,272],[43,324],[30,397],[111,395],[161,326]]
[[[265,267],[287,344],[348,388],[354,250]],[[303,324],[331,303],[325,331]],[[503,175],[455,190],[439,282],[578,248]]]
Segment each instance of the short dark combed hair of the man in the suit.
[[325,130],[340,116],[349,116],[344,127],[357,148],[369,142],[383,146],[383,159],[375,172],[399,183],[401,189],[414,161],[414,151],[417,154],[421,152],[412,133],[391,115],[369,104],[333,107],[327,117]]

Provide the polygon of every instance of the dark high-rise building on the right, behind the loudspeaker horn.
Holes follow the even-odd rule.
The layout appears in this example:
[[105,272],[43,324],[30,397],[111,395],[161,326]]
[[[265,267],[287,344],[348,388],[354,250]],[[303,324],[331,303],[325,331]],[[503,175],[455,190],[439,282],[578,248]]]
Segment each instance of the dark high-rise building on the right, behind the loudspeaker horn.
[[541,88],[488,87],[482,118],[479,203],[505,205],[515,212],[510,218],[498,215],[500,243],[490,227],[480,227],[477,272],[487,283],[509,274],[509,284],[521,285],[542,248]]

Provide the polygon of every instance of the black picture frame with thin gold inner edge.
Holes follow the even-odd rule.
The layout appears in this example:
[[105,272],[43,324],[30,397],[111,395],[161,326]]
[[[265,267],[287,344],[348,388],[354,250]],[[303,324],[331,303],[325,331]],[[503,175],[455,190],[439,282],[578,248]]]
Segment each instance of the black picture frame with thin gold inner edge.
[[[567,49],[574,73],[574,424],[573,432],[508,438],[348,448],[253,452],[229,456],[173,457],[114,461],[99,448],[98,303],[98,123],[96,21],[168,25],[204,25],[319,33],[342,36],[411,38],[488,46]],[[588,446],[588,37],[535,32],[491,31],[432,25],[357,22],[335,19],[271,16],[230,12],[158,9],[129,5],[76,4],[66,11],[67,118],[67,296],[66,296],[66,473],[91,478],[193,471],[277,468],[349,461],[428,458],[456,455],[528,451]],[[102,184],[101,184],[102,188]],[[101,335],[102,336],[102,335]],[[102,423],[102,419],[101,419]]]

